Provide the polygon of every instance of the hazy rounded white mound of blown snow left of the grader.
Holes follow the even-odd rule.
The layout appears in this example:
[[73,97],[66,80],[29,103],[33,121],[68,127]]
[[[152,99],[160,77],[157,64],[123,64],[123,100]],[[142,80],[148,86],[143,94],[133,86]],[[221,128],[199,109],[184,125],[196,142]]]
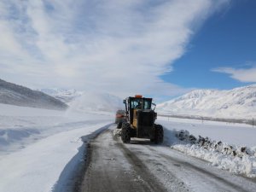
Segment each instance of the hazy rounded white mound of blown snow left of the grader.
[[69,111],[80,113],[115,113],[124,104],[117,96],[105,93],[86,92],[70,103]]

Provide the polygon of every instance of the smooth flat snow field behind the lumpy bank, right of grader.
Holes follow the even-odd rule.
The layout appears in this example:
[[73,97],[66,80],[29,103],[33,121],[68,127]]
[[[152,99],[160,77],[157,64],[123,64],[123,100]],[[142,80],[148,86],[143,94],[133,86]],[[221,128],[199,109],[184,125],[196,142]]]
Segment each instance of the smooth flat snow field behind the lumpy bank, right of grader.
[[164,117],[158,117],[158,121],[168,129],[187,130],[196,137],[200,135],[234,145],[256,146],[256,127],[252,125]]

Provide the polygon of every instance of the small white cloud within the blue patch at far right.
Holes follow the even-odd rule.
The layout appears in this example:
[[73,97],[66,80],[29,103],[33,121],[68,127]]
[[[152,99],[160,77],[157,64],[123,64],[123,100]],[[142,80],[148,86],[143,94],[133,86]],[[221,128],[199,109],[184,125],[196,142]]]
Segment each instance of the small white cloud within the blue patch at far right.
[[232,68],[219,67],[212,69],[213,72],[230,74],[230,78],[236,79],[244,83],[256,83],[256,67],[251,68]]

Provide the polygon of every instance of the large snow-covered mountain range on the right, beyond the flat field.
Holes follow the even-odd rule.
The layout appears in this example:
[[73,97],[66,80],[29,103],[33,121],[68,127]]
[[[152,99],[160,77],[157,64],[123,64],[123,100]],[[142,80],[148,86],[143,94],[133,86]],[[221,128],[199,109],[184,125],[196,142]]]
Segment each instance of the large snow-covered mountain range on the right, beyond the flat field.
[[159,113],[217,118],[256,118],[256,84],[233,90],[193,90],[157,105]]

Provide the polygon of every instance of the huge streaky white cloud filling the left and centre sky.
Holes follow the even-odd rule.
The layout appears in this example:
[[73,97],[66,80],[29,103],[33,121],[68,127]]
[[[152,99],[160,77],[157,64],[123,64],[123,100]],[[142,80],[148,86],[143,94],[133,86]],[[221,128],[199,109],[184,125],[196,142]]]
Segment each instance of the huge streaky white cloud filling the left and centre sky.
[[30,86],[173,95],[160,79],[229,0],[9,0],[0,3],[0,75]]

